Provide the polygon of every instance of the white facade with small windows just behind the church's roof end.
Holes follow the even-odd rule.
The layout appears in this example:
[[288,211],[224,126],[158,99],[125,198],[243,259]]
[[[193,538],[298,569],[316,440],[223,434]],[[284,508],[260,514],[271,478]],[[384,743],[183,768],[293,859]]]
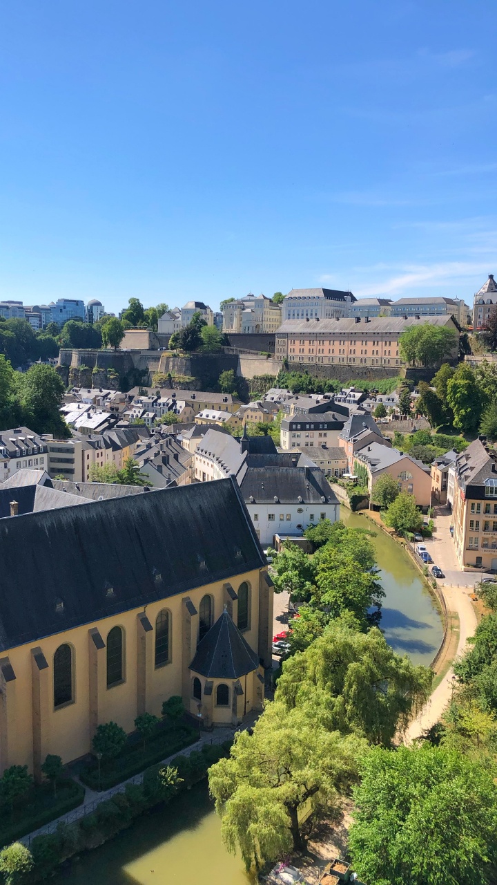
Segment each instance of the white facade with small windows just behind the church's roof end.
[[340,504],[246,504],[262,544],[272,544],[274,535],[302,535],[322,519],[340,519]]

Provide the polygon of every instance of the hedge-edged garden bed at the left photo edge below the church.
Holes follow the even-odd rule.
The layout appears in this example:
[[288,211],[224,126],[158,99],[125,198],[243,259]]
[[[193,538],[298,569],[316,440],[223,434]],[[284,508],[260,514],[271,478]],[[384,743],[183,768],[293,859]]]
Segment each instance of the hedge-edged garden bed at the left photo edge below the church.
[[33,802],[13,812],[0,814],[0,848],[9,845],[27,833],[56,820],[61,814],[72,812],[85,797],[85,789],[70,778],[59,781],[57,797],[51,783],[34,787]]

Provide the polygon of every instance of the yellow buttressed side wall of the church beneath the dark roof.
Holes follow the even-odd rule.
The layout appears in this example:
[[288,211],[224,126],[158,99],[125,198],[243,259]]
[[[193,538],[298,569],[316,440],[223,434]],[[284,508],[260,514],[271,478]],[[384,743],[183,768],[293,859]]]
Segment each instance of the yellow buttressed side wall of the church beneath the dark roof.
[[[167,578],[164,576],[165,584]],[[145,607],[111,615],[103,620],[75,627],[70,630],[46,636],[38,641],[15,649],[4,651],[2,657],[9,658],[16,679],[4,684],[2,709],[0,711],[0,769],[11,765],[27,765],[30,771],[36,757],[38,740],[39,757],[44,760],[48,753],[60,756],[64,763],[91,750],[91,740],[96,724],[117,722],[126,732],[134,730],[134,719],[139,712],[161,714],[163,701],[172,695],[182,695],[183,673],[195,654],[195,644],[191,657],[186,658],[183,650],[184,618],[183,600],[189,597],[198,612],[200,601],[205,593],[210,593],[214,601],[212,622],[218,619],[226,603],[226,583],[229,581],[236,591],[242,581],[250,586],[250,624],[244,632],[248,644],[258,650],[259,622],[259,571],[237,575],[227,581],[211,583],[204,587],[189,590],[185,594],[157,600]],[[171,613],[170,659],[171,663],[155,666],[155,627],[157,614],[162,609]],[[152,630],[143,632],[138,615],[145,612]],[[236,623],[236,601],[233,603],[233,620]],[[106,649],[96,650],[89,636],[92,628],[97,628],[106,643],[111,627],[119,626],[125,631],[124,681],[109,689],[106,687]],[[198,614],[191,619],[192,641],[197,642]],[[73,646],[73,702],[54,709],[53,706],[53,656],[58,646],[69,643]],[[146,673],[144,690],[140,687],[139,646],[144,650]],[[34,662],[33,650],[40,649],[46,658],[47,667]],[[90,673],[93,673],[98,703],[93,704],[90,688]],[[248,677],[250,681],[250,677]],[[243,684],[243,683],[242,683]],[[244,687],[244,684],[243,684]],[[215,689],[214,689],[215,690]],[[252,690],[248,694],[252,695]],[[231,695],[231,689],[230,689]],[[38,698],[38,700],[37,700]],[[142,698],[142,701],[140,700]],[[188,698],[184,698],[186,703]],[[140,704],[143,709],[140,709]],[[93,709],[92,708],[93,704]],[[38,707],[37,707],[38,705]],[[38,709],[38,712],[37,712]],[[93,713],[92,713],[93,709]],[[226,709],[226,708],[225,708]],[[196,712],[196,708],[195,708]],[[4,734],[2,735],[2,731]],[[36,735],[37,738],[36,738]]]

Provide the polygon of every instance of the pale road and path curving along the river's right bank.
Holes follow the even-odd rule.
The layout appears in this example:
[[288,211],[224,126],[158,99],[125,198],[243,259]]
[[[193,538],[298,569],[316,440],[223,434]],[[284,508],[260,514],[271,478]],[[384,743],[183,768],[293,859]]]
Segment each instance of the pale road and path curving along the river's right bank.
[[[474,584],[480,580],[480,573],[462,572],[457,567],[455,558],[454,542],[450,536],[450,513],[447,508],[436,509],[435,513],[436,533],[431,541],[426,542],[433,562],[440,566],[446,578],[441,587],[450,612],[457,612],[459,616],[460,635],[456,657],[460,657],[466,648],[468,638],[472,636],[477,627],[475,610],[470,601],[470,592]],[[452,586],[447,586],[452,583]],[[466,584],[469,589],[466,589]],[[457,586],[459,585],[459,586]],[[431,728],[447,709],[453,692],[454,671],[450,667],[440,685],[434,690],[428,704],[421,714],[408,728],[404,737],[405,743],[410,743],[420,737],[425,730]]]

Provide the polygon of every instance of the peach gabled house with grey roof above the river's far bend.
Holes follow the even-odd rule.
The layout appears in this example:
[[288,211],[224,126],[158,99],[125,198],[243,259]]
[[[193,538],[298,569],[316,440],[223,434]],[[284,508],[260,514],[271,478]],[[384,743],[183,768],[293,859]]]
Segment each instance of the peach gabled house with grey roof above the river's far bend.
[[410,455],[404,455],[398,449],[392,449],[381,443],[371,443],[356,451],[354,473],[361,475],[365,470],[368,489],[371,491],[384,473],[397,482],[401,492],[414,495],[420,507],[429,507],[432,503],[432,479],[430,468]]

